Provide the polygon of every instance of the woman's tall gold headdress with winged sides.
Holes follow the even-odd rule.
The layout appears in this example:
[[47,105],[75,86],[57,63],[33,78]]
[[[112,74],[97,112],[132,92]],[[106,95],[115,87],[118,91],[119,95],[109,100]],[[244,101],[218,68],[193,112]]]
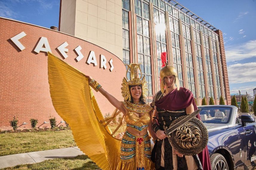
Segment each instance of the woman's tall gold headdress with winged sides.
[[[131,93],[130,93],[129,85],[134,86],[134,85],[140,85],[140,84],[142,86],[142,94],[141,95],[143,96],[143,99],[146,100],[146,96],[147,96],[147,92],[148,92],[147,82],[145,80],[145,77],[143,77],[141,80],[142,74],[141,74],[140,78],[138,78],[137,70],[139,69],[141,72],[140,64],[131,63],[130,65],[128,65],[128,64],[125,64],[125,65],[127,65],[128,67],[126,70],[126,78],[124,77],[122,87],[121,87],[122,96],[124,97],[124,101],[131,100]],[[127,78],[127,72],[129,69],[131,71],[131,73],[130,73],[131,79],[130,80],[128,80],[128,78]]]

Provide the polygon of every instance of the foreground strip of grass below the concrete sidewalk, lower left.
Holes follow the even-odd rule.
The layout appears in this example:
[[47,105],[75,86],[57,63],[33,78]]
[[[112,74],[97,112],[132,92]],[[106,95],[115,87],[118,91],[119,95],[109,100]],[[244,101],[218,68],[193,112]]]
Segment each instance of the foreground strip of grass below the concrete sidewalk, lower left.
[[17,165],[14,167],[4,168],[2,170],[44,170],[44,169],[85,169],[85,170],[95,170],[99,169],[99,167],[93,163],[86,155],[78,155],[75,158],[58,158],[52,160],[45,160],[43,162],[34,163],[34,164],[25,164],[25,165]]

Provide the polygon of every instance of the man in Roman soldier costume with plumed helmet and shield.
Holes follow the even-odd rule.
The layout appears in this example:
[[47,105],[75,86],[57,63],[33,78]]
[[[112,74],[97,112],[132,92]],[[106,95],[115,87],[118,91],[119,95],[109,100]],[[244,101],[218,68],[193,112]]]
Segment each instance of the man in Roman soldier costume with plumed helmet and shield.
[[[196,170],[196,169],[203,169],[203,170],[210,170],[210,158],[208,148],[206,146],[208,141],[208,132],[207,130],[201,130],[198,128],[198,125],[193,126],[192,128],[187,128],[184,125],[184,129],[189,130],[176,130],[176,133],[172,133],[171,135],[166,134],[166,129],[170,127],[171,123],[175,122],[175,119],[178,119],[181,116],[189,115],[195,110],[197,110],[197,106],[195,104],[195,100],[191,91],[184,87],[179,86],[178,74],[174,67],[168,66],[166,64],[166,52],[162,53],[162,69],[160,71],[160,78],[161,78],[161,90],[156,93],[153,97],[153,101],[151,106],[154,107],[153,117],[152,117],[152,127],[154,132],[158,137],[158,141],[156,141],[154,150],[152,152],[152,158],[155,157],[155,168],[156,169],[168,169],[168,170]],[[164,60],[164,61],[163,61]],[[176,86],[175,86],[176,85]],[[200,116],[196,116],[198,119],[197,122],[200,121]],[[194,118],[196,119],[196,118]],[[201,123],[203,125],[203,123]],[[173,126],[173,124],[171,125]],[[196,129],[195,133],[192,134],[192,129]],[[202,132],[203,131],[203,132]],[[199,143],[202,142],[202,138],[197,138],[195,135],[199,134],[201,136],[204,134],[207,135],[207,141],[205,145],[200,145]],[[183,133],[183,134],[182,134]],[[189,134],[190,133],[190,134]],[[176,134],[176,136],[175,136]],[[178,135],[181,135],[180,137]],[[185,136],[192,136],[192,141],[188,145],[191,146],[186,151],[188,152],[180,152],[182,147],[186,147],[184,144],[181,147],[176,147],[177,145],[171,146],[171,141],[178,140],[178,138],[182,138]],[[167,138],[168,137],[168,138]],[[187,141],[189,141],[188,139]],[[170,141],[170,142],[169,142]],[[186,140],[185,140],[186,141]],[[178,142],[174,142],[178,143]],[[185,142],[186,143],[186,142]],[[199,145],[197,145],[199,144]],[[206,146],[206,147],[205,147]],[[201,147],[201,148],[200,148]],[[191,154],[193,150],[199,150],[199,154]]]

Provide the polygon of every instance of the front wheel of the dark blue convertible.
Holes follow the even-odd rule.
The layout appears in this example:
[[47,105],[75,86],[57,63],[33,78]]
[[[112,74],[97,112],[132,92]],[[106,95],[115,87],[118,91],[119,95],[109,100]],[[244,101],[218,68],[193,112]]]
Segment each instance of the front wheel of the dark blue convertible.
[[226,159],[219,153],[215,153],[211,156],[212,170],[229,170]]

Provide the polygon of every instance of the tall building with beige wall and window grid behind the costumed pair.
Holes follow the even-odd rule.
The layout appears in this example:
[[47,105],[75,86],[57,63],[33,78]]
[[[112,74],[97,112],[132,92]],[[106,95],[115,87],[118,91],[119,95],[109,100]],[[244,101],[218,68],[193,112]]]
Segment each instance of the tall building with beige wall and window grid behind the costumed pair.
[[[177,1],[72,1],[76,5],[84,4],[83,7],[73,7],[74,23],[83,22],[84,28],[87,27],[81,29],[79,24],[75,24],[74,30],[79,31],[75,31],[74,35],[84,34],[80,38],[99,46],[103,44],[103,48],[122,58],[124,64],[141,63],[142,74],[148,82],[149,102],[160,90],[160,57],[161,52],[166,51],[167,63],[178,71],[180,86],[191,90],[198,103],[201,103],[203,97],[209,103],[209,97],[213,97],[215,104],[219,104],[222,95],[225,103],[231,104],[222,32]],[[64,24],[67,19],[62,17],[65,16],[63,6],[66,7],[67,3],[70,1],[61,1],[59,30],[63,32],[67,27]],[[97,9],[97,12],[90,12],[91,8]],[[65,11],[68,13],[68,10]],[[77,15],[87,16],[87,19]],[[92,26],[89,18],[91,20],[93,17],[95,20]],[[106,23],[106,26],[102,26],[99,21]],[[112,30],[108,24],[112,25]],[[88,28],[94,30],[95,36],[92,36]],[[109,35],[112,35],[111,38]],[[106,42],[102,43],[100,38]],[[110,43],[115,43],[115,50],[110,48]]]

